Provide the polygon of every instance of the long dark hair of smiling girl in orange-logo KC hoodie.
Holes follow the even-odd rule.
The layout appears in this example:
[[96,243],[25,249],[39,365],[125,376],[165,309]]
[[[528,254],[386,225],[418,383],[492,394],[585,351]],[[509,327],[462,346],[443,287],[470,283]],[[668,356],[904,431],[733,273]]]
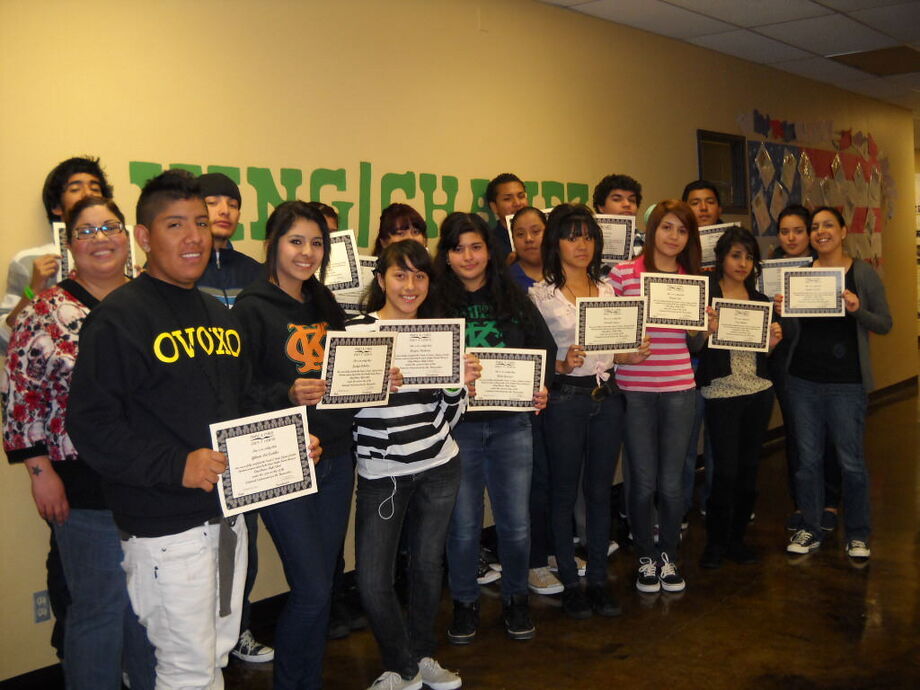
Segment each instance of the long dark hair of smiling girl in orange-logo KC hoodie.
[[304,297],[309,298],[316,305],[332,330],[341,330],[345,327],[345,312],[335,301],[329,288],[320,282],[326,275],[326,267],[329,266],[329,226],[326,225],[326,219],[322,213],[303,201],[285,201],[276,206],[268,217],[268,222],[265,224],[265,265],[268,269],[268,276],[272,282],[278,283],[278,244],[294,223],[301,219],[316,223],[323,236],[323,260],[317,271],[320,277],[317,278],[317,273],[314,273],[303,282],[301,291]]

